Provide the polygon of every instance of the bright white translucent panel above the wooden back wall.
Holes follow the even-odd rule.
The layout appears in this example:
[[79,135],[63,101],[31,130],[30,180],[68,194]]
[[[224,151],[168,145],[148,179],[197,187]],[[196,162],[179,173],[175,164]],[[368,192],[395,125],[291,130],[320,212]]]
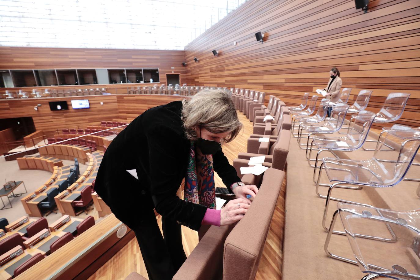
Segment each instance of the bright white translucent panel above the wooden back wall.
[[0,45],[183,50],[245,0],[0,0]]

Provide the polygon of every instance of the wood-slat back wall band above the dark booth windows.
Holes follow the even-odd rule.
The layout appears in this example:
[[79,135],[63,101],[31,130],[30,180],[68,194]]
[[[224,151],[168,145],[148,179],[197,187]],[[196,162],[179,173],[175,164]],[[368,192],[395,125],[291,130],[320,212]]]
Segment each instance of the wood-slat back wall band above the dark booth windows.
[[162,84],[172,71],[182,79],[183,61],[182,50],[0,47],[0,69],[159,68]]

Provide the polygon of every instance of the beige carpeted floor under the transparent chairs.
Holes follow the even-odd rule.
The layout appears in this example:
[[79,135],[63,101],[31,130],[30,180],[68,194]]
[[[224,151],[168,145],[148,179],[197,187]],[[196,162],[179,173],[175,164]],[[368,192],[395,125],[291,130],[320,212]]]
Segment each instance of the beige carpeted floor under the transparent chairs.
[[[373,138],[370,138],[373,139]],[[374,144],[368,143],[367,147]],[[357,150],[351,153],[339,153],[341,158],[369,159],[373,152]],[[328,152],[323,157],[333,157]],[[314,158],[314,156],[312,156]],[[327,233],[323,230],[321,221],[325,206],[325,199],[315,194],[315,184],[312,182],[313,167],[310,167],[305,158],[305,150],[299,149],[296,138],[290,142],[290,151],[287,159],[287,192],[286,192],[286,225],[284,237],[283,279],[361,279],[362,273],[357,265],[341,262],[329,258],[324,251]],[[417,177],[420,167],[413,166],[408,173],[409,178]],[[325,171],[321,177],[322,183],[328,183]],[[414,210],[420,208],[420,199],[415,194],[418,182],[402,181],[393,188],[363,188],[362,190],[349,190],[334,188],[333,196],[370,204],[394,210]],[[320,193],[326,194],[327,187],[320,187]],[[333,212],[337,209],[337,202],[331,201],[327,227],[331,222]],[[341,220],[336,222],[337,230],[342,230]],[[370,241],[366,246],[375,248],[383,244]],[[383,242],[380,242],[383,243]],[[389,244],[389,243],[388,243]],[[346,236],[333,235],[329,247],[331,253],[354,259],[349,241]],[[392,259],[391,251],[377,252],[378,259]]]

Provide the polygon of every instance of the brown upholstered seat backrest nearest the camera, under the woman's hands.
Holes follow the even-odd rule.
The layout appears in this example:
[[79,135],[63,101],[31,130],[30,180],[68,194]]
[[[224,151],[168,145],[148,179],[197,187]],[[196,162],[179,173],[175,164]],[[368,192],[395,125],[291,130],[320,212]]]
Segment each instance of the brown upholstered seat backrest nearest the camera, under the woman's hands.
[[284,176],[281,170],[265,171],[247,214],[226,238],[223,279],[254,279]]

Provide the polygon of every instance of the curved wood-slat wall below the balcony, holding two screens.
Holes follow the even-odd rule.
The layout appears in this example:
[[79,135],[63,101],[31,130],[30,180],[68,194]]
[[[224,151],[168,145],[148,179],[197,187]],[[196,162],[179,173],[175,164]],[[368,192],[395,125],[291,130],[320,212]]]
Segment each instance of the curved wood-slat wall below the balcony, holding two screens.
[[[81,98],[89,100],[90,108],[72,109],[71,100]],[[45,135],[53,136],[61,128],[87,128],[102,120],[133,120],[151,107],[182,99],[182,96],[156,94],[112,94],[0,100],[0,119],[32,117],[37,131],[42,130]],[[50,101],[67,101],[68,110],[51,111]],[[38,104],[41,106],[35,111],[34,107]]]

